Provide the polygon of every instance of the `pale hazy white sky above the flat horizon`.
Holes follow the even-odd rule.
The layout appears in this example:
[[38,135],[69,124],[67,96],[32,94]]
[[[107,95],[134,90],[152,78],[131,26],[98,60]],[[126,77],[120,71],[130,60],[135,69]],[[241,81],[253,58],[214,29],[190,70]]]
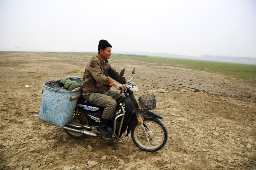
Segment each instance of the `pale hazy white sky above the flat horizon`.
[[0,51],[256,57],[256,0],[0,0]]

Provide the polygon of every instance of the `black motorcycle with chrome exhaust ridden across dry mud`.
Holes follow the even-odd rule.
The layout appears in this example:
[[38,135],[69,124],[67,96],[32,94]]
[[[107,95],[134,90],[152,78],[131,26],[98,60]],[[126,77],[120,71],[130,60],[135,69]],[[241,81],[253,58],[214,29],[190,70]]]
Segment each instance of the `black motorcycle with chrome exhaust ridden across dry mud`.
[[[121,70],[120,77],[123,76],[124,71],[125,68]],[[134,66],[132,78],[135,74]],[[158,151],[166,144],[168,132],[165,125],[159,120],[163,119],[163,117],[149,111],[156,107],[155,94],[142,95],[137,102],[133,93],[138,91],[138,86],[131,82],[132,78],[125,85],[127,91],[120,92],[125,95],[124,102],[119,104],[108,123],[107,130],[117,142],[120,141],[123,133],[127,131],[126,136],[131,133],[134,144],[143,151]],[[80,97],[77,100],[73,120],[62,129],[68,135],[78,139],[85,136],[102,138],[101,134],[97,133],[97,128],[103,110],[104,107],[89,103],[83,97]]]

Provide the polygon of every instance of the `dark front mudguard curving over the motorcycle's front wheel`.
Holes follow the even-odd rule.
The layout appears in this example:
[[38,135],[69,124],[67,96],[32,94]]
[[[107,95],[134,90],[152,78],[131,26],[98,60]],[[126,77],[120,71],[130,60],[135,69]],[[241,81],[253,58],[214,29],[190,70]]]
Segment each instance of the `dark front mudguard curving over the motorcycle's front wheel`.
[[[142,120],[144,120],[145,118],[163,119],[163,117],[161,115],[158,115],[157,113],[151,112],[151,111],[136,110],[135,113],[140,115]],[[131,132],[133,124],[138,123],[137,118],[136,118],[136,114],[133,114],[133,116],[132,116],[132,118],[131,118],[131,120],[128,124],[127,133],[126,133],[125,137],[128,136],[129,133]]]

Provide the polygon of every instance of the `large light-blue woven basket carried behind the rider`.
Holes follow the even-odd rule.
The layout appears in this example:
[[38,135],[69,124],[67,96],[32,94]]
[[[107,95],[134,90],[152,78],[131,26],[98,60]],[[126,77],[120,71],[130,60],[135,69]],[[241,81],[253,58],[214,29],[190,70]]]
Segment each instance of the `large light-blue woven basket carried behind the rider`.
[[[83,82],[79,77],[64,77],[79,84]],[[81,96],[82,87],[72,91],[61,90],[61,79],[47,81],[43,84],[42,105],[39,112],[39,119],[59,127],[63,127],[73,119],[78,97]]]

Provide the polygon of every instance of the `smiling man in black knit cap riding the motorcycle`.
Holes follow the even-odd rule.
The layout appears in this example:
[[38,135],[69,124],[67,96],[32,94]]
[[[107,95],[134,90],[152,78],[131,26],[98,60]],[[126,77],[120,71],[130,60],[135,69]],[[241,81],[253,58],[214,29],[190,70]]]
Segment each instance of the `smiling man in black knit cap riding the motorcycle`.
[[[87,63],[83,76],[83,98],[98,106],[105,107],[100,119],[98,133],[106,139],[111,139],[112,135],[106,130],[109,118],[114,114],[117,103],[123,102],[124,94],[111,90],[112,86],[120,87],[121,91],[126,89],[122,84],[126,83],[125,78],[120,77],[109,64],[112,46],[106,40],[100,40],[98,53]],[[110,80],[109,77],[118,83]]]

